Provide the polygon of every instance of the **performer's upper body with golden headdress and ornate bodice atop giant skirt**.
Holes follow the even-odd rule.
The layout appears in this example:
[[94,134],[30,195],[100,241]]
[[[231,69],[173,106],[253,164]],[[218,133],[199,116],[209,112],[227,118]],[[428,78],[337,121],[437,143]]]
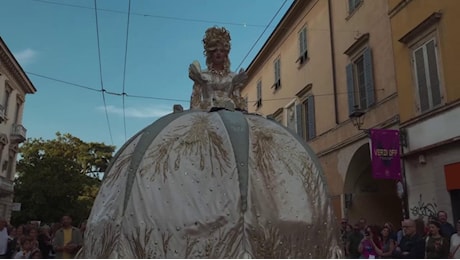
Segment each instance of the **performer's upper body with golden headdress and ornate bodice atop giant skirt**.
[[246,110],[240,96],[240,87],[247,78],[243,69],[230,71],[230,34],[225,28],[211,27],[203,38],[207,70],[201,71],[198,61],[189,67],[189,77],[194,81],[191,109],[209,110],[213,107],[229,110]]

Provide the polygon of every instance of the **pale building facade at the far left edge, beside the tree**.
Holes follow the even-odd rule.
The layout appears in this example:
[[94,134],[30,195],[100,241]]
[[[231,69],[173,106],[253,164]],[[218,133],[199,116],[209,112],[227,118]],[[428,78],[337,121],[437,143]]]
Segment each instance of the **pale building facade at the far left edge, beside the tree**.
[[25,97],[36,91],[0,37],[0,217],[5,219],[11,216],[18,145],[26,139]]

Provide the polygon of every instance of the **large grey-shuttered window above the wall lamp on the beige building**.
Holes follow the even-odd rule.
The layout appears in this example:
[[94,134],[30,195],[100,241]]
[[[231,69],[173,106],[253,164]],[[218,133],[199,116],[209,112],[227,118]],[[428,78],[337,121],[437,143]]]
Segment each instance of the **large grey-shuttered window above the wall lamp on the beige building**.
[[346,67],[348,109],[367,109],[375,103],[375,90],[370,48],[357,55]]

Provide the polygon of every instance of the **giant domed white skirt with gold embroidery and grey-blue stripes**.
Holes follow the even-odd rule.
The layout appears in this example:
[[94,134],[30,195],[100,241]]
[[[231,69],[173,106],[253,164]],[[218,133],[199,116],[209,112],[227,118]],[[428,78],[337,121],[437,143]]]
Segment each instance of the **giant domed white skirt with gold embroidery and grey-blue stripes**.
[[84,258],[330,258],[340,250],[312,150],[239,111],[160,118],[115,155]]

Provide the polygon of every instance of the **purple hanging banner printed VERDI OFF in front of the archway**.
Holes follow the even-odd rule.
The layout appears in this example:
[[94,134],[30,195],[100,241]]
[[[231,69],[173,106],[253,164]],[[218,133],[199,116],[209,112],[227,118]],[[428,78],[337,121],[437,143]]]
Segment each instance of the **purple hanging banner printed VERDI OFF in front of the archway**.
[[399,131],[370,129],[372,177],[374,179],[401,179]]

